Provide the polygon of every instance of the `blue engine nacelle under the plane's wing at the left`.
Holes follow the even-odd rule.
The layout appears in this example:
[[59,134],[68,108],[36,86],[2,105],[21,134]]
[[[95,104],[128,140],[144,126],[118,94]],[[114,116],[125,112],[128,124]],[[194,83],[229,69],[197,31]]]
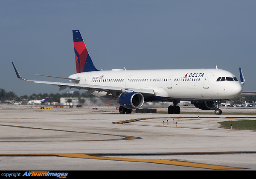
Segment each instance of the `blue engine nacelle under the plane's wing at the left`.
[[138,109],[144,103],[144,97],[139,92],[122,93],[117,102],[127,109]]

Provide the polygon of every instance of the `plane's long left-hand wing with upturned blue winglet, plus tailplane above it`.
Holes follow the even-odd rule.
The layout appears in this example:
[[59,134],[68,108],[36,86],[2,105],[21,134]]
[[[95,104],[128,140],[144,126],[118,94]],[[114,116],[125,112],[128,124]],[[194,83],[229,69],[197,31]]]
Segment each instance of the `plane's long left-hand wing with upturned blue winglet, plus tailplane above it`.
[[[122,87],[108,87],[108,86],[99,86],[99,85],[90,85],[90,84],[73,84],[73,83],[61,83],[61,82],[53,82],[53,81],[35,81],[35,80],[26,80],[20,76],[20,73],[18,72],[16,66],[14,63],[12,63],[17,78],[19,78],[22,81],[29,81],[34,83],[40,83],[40,84],[51,84],[60,87],[59,91],[66,89],[67,87],[76,88],[79,90],[87,90],[86,95],[90,95],[91,93],[98,91],[98,92],[107,92],[106,95],[111,95],[111,98],[119,96],[123,92],[140,92],[143,96],[152,96],[154,95],[154,90],[146,90],[146,89],[133,89],[133,88],[122,88]],[[45,75],[40,75],[45,76]],[[47,76],[52,77],[52,76]],[[52,78],[60,78],[60,79],[67,79],[67,80],[74,80],[78,82],[78,79],[73,78],[61,78],[61,77],[52,77]]]

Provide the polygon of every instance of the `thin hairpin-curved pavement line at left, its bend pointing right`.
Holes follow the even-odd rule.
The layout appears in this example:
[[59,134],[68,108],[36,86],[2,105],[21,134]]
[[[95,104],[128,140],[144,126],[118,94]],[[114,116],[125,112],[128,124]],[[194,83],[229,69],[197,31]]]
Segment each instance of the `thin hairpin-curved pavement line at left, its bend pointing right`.
[[[70,130],[44,129],[44,128],[36,128],[36,127],[5,125],[5,124],[0,124],[0,126],[5,126],[5,127],[19,127],[19,128],[36,129],[36,130],[51,130],[51,131],[69,132],[69,133],[85,133],[85,134],[97,134],[97,135],[105,135],[105,136],[118,136],[118,137],[122,137],[122,139],[99,139],[99,140],[44,140],[44,142],[45,142],[45,141],[118,141],[118,140],[142,139],[142,138],[140,138],[140,137],[123,136],[123,135],[115,135],[115,134],[87,133],[87,132],[70,131]],[[0,141],[0,142],[42,142],[42,141]]]

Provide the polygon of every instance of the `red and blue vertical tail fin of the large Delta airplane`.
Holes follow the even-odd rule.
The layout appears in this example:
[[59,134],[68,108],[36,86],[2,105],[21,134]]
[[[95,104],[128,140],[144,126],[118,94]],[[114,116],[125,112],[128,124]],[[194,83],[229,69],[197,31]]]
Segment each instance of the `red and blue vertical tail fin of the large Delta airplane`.
[[73,30],[73,40],[76,58],[76,73],[99,71],[93,65],[93,61],[90,58],[79,30]]

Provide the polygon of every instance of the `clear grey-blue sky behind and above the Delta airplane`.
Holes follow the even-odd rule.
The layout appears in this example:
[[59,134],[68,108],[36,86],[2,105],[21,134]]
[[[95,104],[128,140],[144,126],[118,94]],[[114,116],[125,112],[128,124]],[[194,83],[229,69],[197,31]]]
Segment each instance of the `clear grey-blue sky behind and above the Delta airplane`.
[[97,69],[217,65],[239,78],[241,67],[243,90],[256,91],[255,9],[255,0],[1,1],[0,88],[18,96],[59,92],[18,80],[11,62],[26,79],[68,77],[76,73],[72,30],[79,29]]

